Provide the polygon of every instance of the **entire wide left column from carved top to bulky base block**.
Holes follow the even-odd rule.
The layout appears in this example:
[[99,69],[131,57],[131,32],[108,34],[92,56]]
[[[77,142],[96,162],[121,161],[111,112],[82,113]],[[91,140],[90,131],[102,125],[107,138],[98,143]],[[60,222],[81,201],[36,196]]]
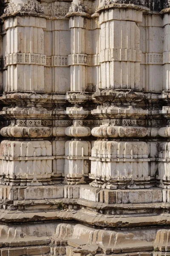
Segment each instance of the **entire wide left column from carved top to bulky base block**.
[[45,122],[51,119],[51,110],[44,108],[44,97],[36,93],[44,92],[44,8],[36,0],[10,1],[3,18],[8,68],[5,90],[10,94],[3,95],[6,107],[0,112],[8,120],[0,131],[6,138],[0,144],[1,182],[11,186],[51,184],[54,157],[48,138],[52,131]]

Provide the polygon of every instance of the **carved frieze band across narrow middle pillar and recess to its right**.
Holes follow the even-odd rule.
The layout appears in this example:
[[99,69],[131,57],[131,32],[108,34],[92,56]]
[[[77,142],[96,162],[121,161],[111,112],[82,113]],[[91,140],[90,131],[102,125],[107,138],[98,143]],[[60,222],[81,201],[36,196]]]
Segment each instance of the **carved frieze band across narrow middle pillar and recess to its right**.
[[68,55],[68,65],[97,66],[99,65],[99,54],[70,54]]

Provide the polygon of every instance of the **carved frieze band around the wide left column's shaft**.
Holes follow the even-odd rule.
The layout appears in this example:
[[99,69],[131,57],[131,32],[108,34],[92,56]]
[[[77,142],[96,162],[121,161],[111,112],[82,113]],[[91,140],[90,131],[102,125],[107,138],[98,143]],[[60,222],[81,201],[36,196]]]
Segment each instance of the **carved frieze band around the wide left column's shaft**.
[[39,53],[10,53],[6,55],[6,66],[14,64],[46,65],[46,55]]

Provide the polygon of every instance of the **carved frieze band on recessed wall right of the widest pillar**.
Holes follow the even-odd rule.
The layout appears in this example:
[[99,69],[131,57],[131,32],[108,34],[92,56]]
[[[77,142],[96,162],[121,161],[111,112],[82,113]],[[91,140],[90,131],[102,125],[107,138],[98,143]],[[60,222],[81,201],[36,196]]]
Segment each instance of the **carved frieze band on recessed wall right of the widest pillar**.
[[142,62],[141,64],[157,64],[162,65],[162,53],[142,53]]

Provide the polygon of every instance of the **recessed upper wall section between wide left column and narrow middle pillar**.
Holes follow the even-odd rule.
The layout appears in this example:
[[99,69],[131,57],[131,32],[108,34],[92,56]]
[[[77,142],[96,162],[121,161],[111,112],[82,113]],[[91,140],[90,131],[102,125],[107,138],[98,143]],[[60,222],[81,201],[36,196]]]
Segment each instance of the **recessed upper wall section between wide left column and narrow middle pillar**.
[[69,6],[70,3],[55,1],[45,7],[45,14],[50,17],[44,31],[44,53],[47,55],[44,79],[45,92],[48,93],[70,91],[70,29],[65,17]]

